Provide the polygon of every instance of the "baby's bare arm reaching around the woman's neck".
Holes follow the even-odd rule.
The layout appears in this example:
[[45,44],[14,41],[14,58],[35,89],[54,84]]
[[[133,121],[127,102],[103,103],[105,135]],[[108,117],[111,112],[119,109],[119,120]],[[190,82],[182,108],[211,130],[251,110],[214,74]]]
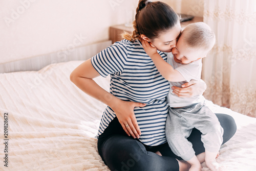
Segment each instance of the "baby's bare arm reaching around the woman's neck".
[[175,70],[172,65],[168,64],[163,58],[157,53],[157,48],[153,47],[150,43],[142,40],[142,46],[148,56],[151,57],[152,61],[156,65],[158,71],[168,81],[181,82],[185,81],[184,77],[179,71]]

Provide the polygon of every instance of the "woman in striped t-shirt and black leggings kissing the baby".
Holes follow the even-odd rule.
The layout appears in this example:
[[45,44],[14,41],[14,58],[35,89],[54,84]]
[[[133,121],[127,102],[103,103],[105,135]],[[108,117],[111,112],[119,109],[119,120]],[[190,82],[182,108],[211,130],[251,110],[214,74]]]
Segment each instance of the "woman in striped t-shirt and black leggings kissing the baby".
[[[166,60],[163,52],[175,47],[181,32],[179,18],[162,2],[139,1],[136,12],[133,34],[124,35],[126,39],[79,65],[70,79],[108,105],[97,137],[99,154],[111,170],[187,170],[189,165],[177,160],[180,158],[173,154],[165,138],[168,81],[141,45],[141,37],[151,41]],[[111,75],[110,93],[93,81],[100,75]],[[201,94],[205,87],[205,83],[191,81],[173,90],[185,97]],[[217,117],[224,129],[225,143],[236,131],[236,124],[228,115],[217,114]],[[188,139],[203,162],[201,133],[194,129]]]

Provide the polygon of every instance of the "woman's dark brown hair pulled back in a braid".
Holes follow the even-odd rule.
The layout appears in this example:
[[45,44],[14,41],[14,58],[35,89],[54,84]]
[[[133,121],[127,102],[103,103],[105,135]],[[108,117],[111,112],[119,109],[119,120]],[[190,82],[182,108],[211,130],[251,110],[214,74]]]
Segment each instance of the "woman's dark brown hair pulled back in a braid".
[[122,37],[130,41],[135,41],[143,34],[153,40],[160,33],[173,28],[178,21],[178,15],[167,4],[140,0],[136,8],[135,20],[133,21],[134,31],[132,35],[124,33]]

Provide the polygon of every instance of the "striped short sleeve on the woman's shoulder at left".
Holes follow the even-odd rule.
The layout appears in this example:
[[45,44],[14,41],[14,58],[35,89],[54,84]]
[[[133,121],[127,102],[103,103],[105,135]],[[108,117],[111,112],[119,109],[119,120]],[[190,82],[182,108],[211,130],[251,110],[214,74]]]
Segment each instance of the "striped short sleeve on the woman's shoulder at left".
[[127,59],[125,45],[124,40],[115,42],[92,57],[92,65],[102,77],[106,77],[110,74],[122,74]]

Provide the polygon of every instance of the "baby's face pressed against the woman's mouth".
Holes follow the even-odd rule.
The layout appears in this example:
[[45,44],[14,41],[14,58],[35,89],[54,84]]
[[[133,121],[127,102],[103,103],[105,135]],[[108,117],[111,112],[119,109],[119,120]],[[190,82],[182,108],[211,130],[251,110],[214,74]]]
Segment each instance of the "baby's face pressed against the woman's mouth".
[[172,49],[174,60],[177,63],[188,64],[200,58],[204,58],[207,54],[206,50],[198,48],[188,48],[187,43],[184,41],[184,36],[181,35],[177,41],[176,47]]

